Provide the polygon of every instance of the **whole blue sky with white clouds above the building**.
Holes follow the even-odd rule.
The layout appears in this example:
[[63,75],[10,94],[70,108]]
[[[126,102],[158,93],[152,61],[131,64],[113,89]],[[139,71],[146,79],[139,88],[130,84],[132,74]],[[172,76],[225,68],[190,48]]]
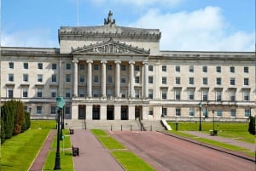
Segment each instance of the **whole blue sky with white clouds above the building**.
[[110,9],[117,26],[160,29],[161,50],[255,49],[255,0],[2,0],[1,45],[59,48],[60,26],[102,26]]

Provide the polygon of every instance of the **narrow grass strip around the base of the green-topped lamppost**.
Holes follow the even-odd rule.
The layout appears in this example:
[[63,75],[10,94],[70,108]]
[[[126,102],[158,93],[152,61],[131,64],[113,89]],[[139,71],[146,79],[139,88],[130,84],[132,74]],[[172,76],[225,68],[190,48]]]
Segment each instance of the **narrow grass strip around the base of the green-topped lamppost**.
[[[56,134],[55,134],[55,139],[51,144],[51,149],[44,163],[43,170],[53,170],[55,168],[55,154],[56,154],[56,145],[57,145]],[[73,171],[73,156],[72,156],[69,130],[63,129],[62,134],[64,136],[64,140],[60,141],[61,170]]]

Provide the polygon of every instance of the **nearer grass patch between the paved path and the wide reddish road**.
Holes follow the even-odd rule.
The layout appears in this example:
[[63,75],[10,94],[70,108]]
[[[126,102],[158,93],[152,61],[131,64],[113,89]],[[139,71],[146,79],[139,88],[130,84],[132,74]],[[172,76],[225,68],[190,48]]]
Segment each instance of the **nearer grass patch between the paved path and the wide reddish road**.
[[148,163],[137,157],[131,151],[112,151],[113,157],[119,161],[127,171],[153,171]]

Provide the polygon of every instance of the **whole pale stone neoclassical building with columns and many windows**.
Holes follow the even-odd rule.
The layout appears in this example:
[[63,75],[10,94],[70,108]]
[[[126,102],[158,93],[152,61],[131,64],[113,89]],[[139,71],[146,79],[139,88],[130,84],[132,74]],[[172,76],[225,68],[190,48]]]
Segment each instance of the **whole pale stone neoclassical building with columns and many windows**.
[[21,100],[41,119],[55,118],[57,96],[73,120],[255,115],[253,52],[161,51],[160,30],[109,17],[58,37],[60,48],[1,48],[2,102]]

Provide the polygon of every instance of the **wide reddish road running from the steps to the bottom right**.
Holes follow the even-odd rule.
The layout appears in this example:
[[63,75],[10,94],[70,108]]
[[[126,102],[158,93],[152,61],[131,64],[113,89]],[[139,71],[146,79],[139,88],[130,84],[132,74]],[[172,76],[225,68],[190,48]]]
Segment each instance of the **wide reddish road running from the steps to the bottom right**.
[[254,171],[255,163],[157,132],[111,132],[158,171]]

